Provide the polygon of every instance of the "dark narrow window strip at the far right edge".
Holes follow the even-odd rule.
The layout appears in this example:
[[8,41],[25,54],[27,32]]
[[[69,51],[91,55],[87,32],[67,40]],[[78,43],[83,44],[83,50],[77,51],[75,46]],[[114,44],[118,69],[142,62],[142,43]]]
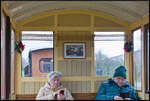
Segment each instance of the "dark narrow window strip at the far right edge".
[[146,92],[149,92],[149,24],[144,26],[145,34],[145,60],[146,60]]

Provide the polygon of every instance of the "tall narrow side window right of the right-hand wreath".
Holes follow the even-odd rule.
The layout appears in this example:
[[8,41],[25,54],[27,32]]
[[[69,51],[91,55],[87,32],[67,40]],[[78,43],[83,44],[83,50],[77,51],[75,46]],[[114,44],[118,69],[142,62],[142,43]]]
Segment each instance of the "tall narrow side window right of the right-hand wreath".
[[141,29],[133,31],[133,79],[136,90],[142,90],[142,36]]

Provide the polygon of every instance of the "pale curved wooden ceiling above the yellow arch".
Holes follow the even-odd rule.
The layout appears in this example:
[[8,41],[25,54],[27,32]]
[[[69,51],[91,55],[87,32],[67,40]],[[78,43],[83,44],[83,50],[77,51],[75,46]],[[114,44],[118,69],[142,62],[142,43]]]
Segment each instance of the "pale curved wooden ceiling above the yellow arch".
[[149,1],[3,1],[16,22],[46,12],[86,10],[114,16],[130,24],[149,15]]

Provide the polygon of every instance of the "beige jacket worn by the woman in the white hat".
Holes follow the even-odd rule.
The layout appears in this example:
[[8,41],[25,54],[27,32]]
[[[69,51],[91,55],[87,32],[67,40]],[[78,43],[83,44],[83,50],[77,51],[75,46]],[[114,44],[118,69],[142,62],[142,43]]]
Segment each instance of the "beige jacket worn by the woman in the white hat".
[[40,88],[36,100],[55,100],[53,95],[59,93],[60,90],[64,90],[65,100],[73,100],[72,95],[66,88],[61,87],[58,90],[53,91],[48,83]]

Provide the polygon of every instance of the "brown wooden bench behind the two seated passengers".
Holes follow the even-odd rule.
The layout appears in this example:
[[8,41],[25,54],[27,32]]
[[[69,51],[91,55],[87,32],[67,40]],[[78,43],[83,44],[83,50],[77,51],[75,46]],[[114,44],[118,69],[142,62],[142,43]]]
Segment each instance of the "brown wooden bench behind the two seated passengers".
[[[17,94],[16,100],[35,100],[37,94]],[[72,93],[75,100],[95,100],[96,93]]]

